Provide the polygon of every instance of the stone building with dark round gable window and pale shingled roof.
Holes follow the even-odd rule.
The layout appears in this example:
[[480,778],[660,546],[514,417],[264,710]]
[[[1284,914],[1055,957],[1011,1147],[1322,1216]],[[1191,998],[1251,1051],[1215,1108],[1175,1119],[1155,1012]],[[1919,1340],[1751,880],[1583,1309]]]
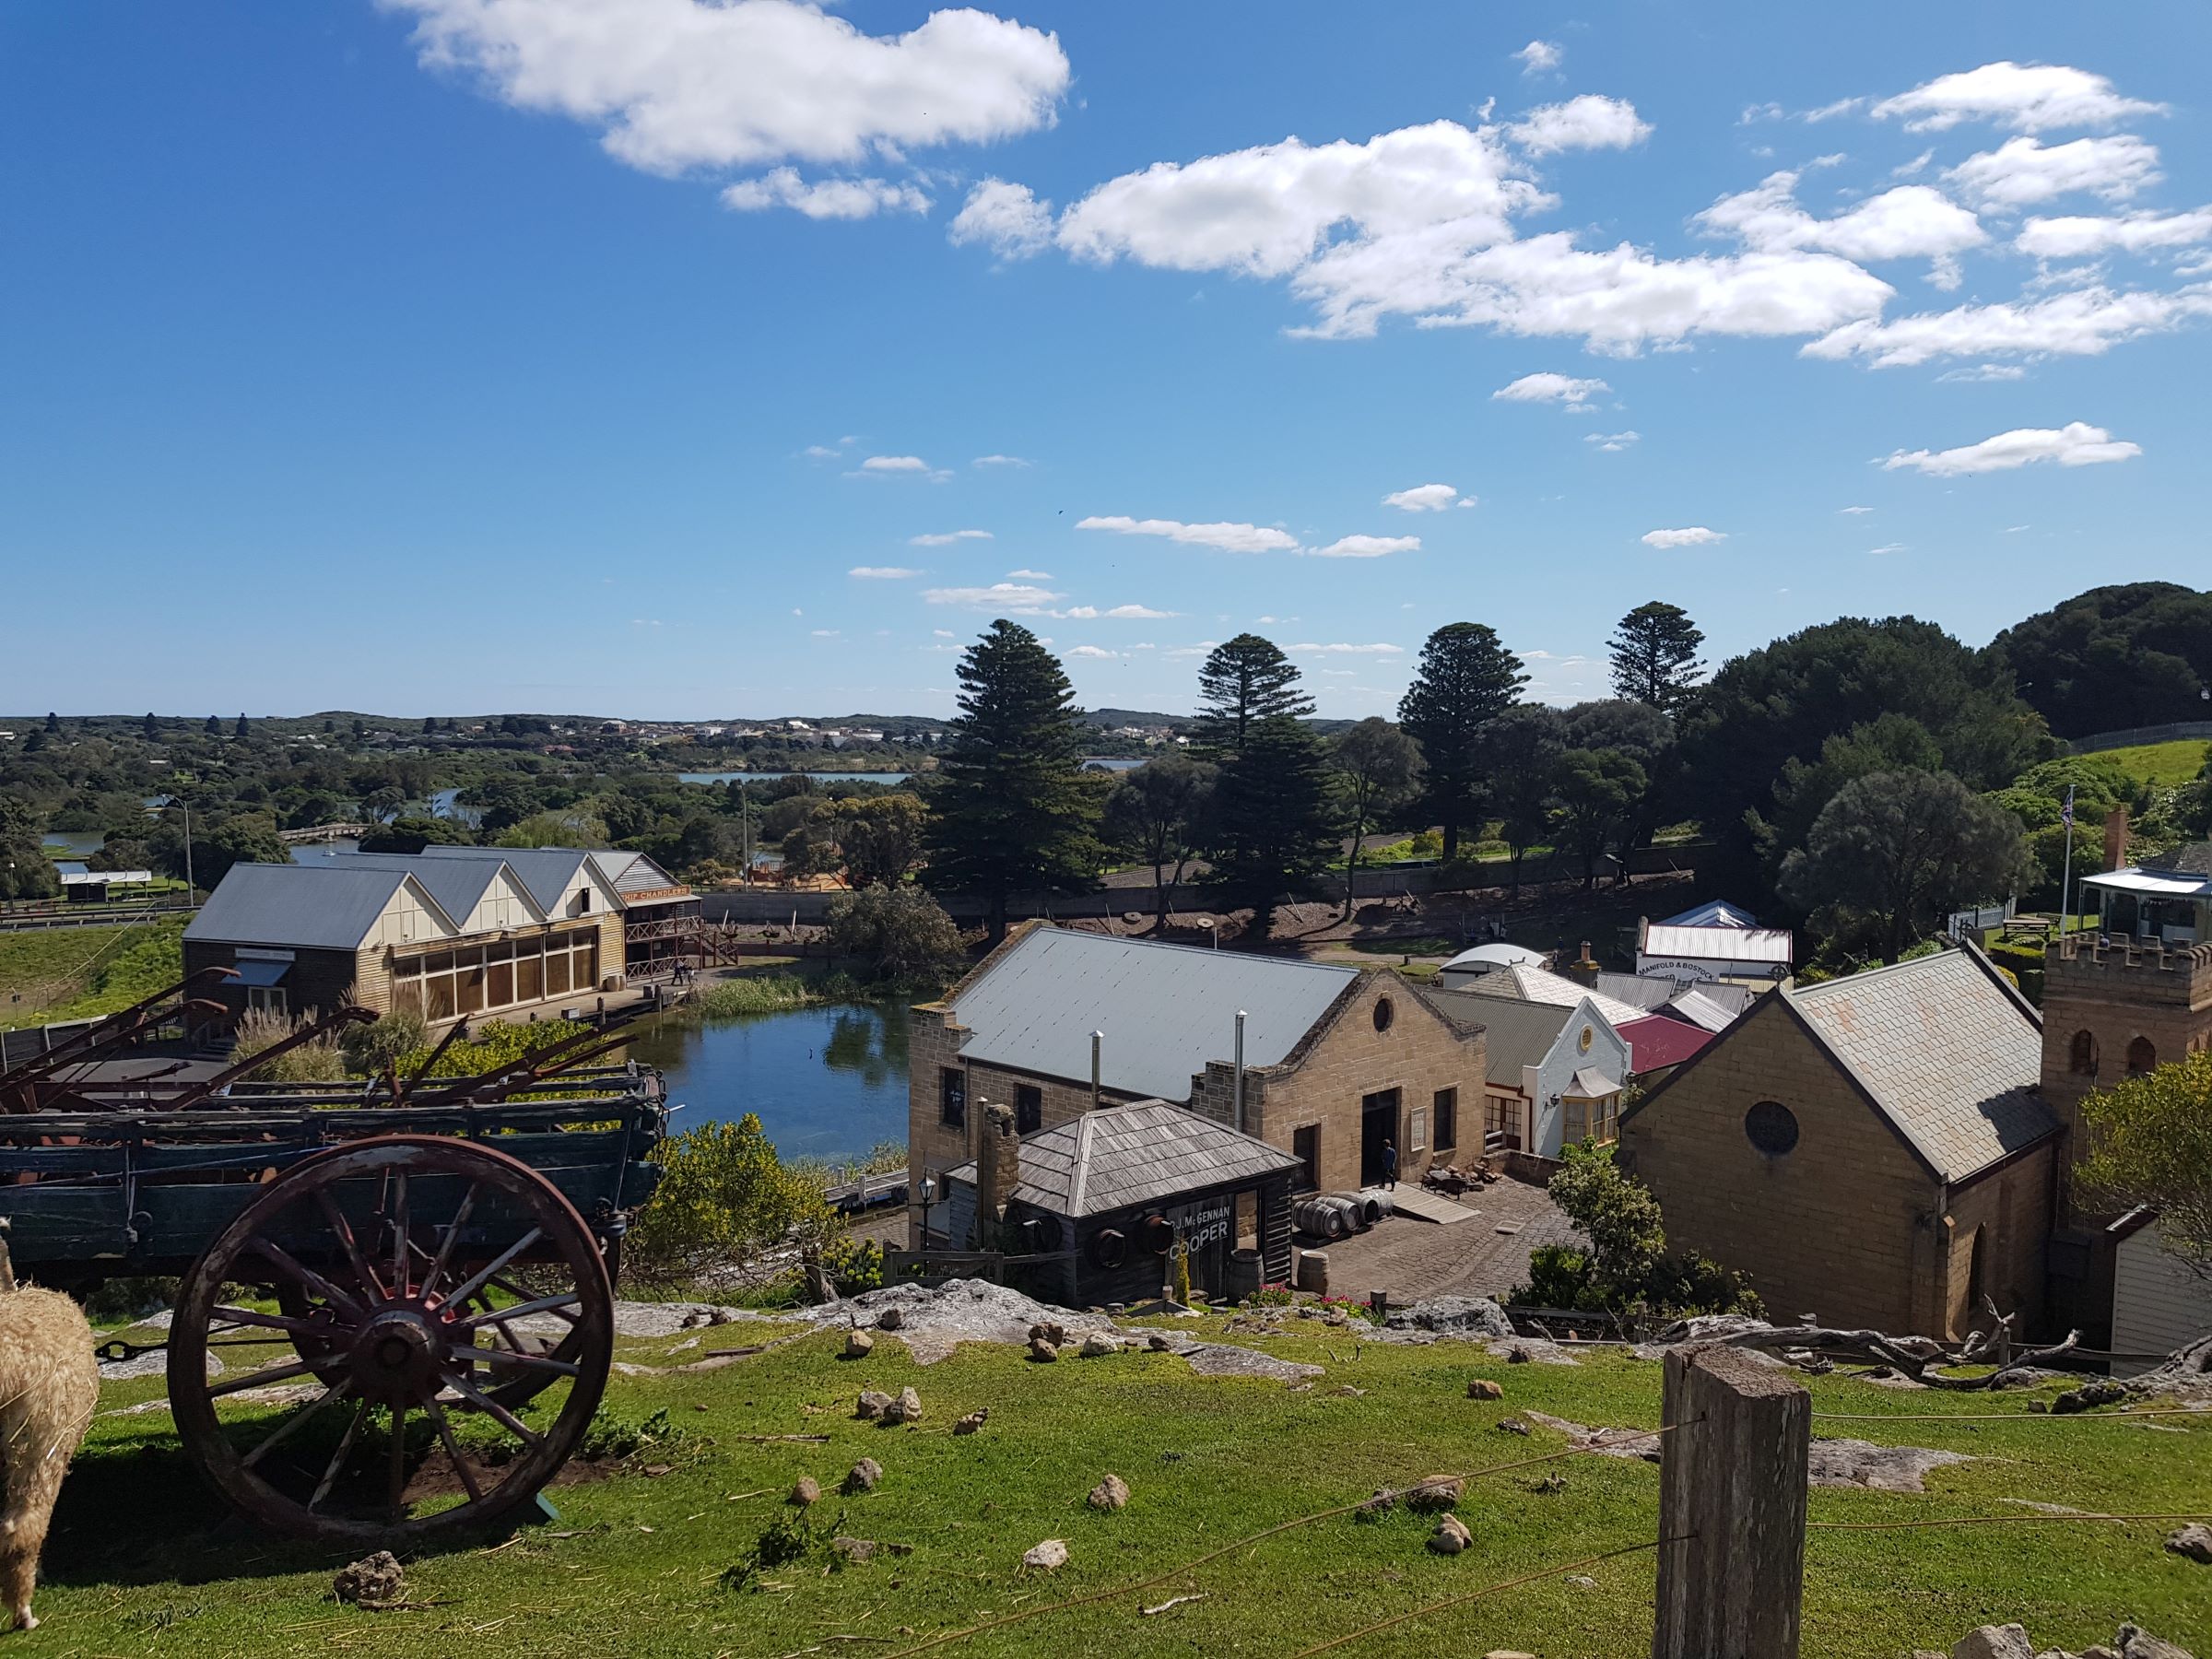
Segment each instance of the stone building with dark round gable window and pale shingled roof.
[[2064,1121],[2035,1009],[1973,949],[1776,991],[1621,1113],[1668,1243],[1776,1318],[2039,1327]]

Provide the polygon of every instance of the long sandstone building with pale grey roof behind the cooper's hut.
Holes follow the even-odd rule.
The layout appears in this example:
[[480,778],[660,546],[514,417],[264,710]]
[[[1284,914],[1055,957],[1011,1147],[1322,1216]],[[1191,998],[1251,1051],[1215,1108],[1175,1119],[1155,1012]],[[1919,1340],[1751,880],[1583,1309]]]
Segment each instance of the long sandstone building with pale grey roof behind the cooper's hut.
[[[1170,1102],[1296,1157],[1301,1190],[1378,1181],[1385,1141],[1407,1181],[1482,1146],[1482,1031],[1389,969],[1031,922],[916,1009],[909,1042],[909,1192],[975,1159],[991,1104],[1026,1137],[1093,1106]],[[918,1206],[909,1234],[920,1245]]]

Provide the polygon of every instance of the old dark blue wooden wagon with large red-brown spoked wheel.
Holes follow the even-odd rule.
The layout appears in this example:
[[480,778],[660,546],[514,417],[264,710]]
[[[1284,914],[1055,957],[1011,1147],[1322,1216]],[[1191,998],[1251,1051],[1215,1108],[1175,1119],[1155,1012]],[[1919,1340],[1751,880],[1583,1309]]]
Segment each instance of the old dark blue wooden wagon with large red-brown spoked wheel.
[[0,1217],[42,1283],[181,1281],[170,1409],[223,1498],[407,1548],[513,1515],[575,1453],[664,1130],[639,1066],[237,1082],[184,1108],[80,1084],[0,1113]]

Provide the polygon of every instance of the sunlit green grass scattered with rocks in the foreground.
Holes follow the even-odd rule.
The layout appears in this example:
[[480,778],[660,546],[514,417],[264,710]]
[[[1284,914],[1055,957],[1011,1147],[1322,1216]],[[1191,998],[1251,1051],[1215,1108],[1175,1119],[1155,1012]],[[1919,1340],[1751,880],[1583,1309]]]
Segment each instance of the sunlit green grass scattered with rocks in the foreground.
[[[1188,1325],[1188,1321],[1186,1321]],[[765,1327],[710,1329],[757,1343]],[[1307,1334],[1312,1332],[1312,1334]],[[679,1340],[626,1340],[624,1358],[681,1363]],[[1354,1332],[1296,1325],[1232,1338],[1327,1367],[1307,1391],[1199,1378],[1164,1354],[1031,1365],[971,1345],[918,1367],[894,1338],[858,1363],[836,1336],[743,1358],[719,1371],[615,1376],[608,1407],[630,1420],[666,1409],[677,1438],[606,1480],[553,1489],[560,1522],[500,1548],[465,1546],[407,1562],[416,1610],[361,1613],[330,1599],[343,1553],[274,1542],[197,1489],[161,1411],[100,1416],[80,1453],[46,1551],[42,1628],[13,1655],[900,1655],[933,1635],[1009,1613],[1042,1617],[933,1648],[940,1655],[1296,1655],[1371,1621],[1489,1584],[1566,1566],[1657,1535],[1657,1469],[1568,1458],[1478,1480],[1460,1513],[1473,1548],[1425,1548],[1431,1531],[1400,1511],[1349,1515],[1194,1557],[1261,1528],[1405,1486],[1436,1471],[1480,1471],[1559,1451],[1559,1433],[1509,1436],[1495,1422],[1533,1407],[1586,1425],[1655,1427],[1661,1371],[1621,1352],[1579,1367],[1506,1365],[1480,1347],[1378,1347]],[[234,1365],[250,1349],[226,1349]],[[1467,1396],[1471,1376],[1504,1402]],[[852,1418],[858,1389],[911,1383],[927,1420],[878,1429]],[[1356,1394],[1336,1394],[1349,1385]],[[1805,1652],[1898,1659],[1949,1652],[1984,1621],[2024,1619],[2035,1644],[2081,1650],[2121,1617],[2181,1641],[2212,1630],[2212,1571],[2168,1555],[2168,1524],[2042,1524],[2006,1500],[2084,1511],[2212,1511],[2212,1416],[2126,1422],[2108,1416],[1969,1422],[2022,1411],[2026,1396],[1893,1391],[1812,1380],[1816,1411],[1940,1413],[1960,1422],[1816,1422],[1885,1444],[1942,1447],[1978,1462],[1938,1469],[1927,1493],[1814,1489],[1812,1520],[1900,1522],[2004,1515],[2028,1524],[1929,1531],[1814,1531],[1805,1557]],[[113,1409],[159,1396],[159,1380],[102,1391]],[[951,1436],[989,1407],[982,1433]],[[748,1444],[739,1436],[821,1433],[827,1444]],[[883,1484],[838,1498],[854,1460]],[[664,1469],[648,1478],[644,1467]],[[1108,1471],[1128,1480],[1119,1515],[1084,1506]],[[816,1548],[768,1568],[759,1588],[723,1571],[790,1511],[799,1475],[830,1493],[832,1528],[909,1544],[832,1571]],[[1546,1480],[1557,1475],[1559,1480]],[[2033,1520],[2031,1520],[2033,1517]],[[1022,1551],[1068,1544],[1057,1575],[1024,1575]],[[1652,1557],[1626,1555],[1425,1615],[1347,1655],[1526,1648],[1544,1659],[1619,1659],[1650,1641]],[[1053,1604],[1115,1590],[1084,1608]],[[1201,1595],[1159,1617],[1177,1595]],[[847,1637],[849,1641],[841,1641]],[[2201,1650],[2201,1646],[2199,1646]]]

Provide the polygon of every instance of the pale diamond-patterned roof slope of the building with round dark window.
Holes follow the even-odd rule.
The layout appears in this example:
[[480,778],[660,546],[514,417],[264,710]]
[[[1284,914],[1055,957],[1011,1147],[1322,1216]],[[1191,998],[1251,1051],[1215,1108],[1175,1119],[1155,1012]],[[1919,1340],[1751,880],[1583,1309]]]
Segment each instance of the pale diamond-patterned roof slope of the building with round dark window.
[[2057,1133],[2042,1022],[1971,951],[1783,991],[1944,1181]]

